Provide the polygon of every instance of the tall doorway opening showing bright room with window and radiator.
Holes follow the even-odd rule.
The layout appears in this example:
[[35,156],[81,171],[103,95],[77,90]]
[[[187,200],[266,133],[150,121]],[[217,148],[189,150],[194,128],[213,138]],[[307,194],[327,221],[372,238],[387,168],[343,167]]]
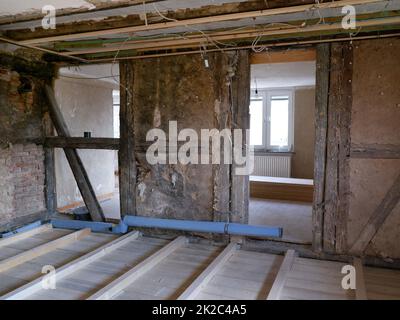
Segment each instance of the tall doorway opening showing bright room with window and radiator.
[[311,244],[315,144],[315,51],[251,59],[249,223],[283,228],[283,241]]

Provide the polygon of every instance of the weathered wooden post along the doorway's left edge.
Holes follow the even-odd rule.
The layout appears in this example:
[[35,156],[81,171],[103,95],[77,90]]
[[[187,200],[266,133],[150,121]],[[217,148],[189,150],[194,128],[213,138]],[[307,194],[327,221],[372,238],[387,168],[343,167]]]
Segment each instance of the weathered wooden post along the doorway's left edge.
[[[232,81],[232,128],[250,128],[250,61],[247,50],[238,51],[235,76]],[[246,135],[243,134],[243,147],[246,150]],[[232,221],[248,223],[249,219],[249,176],[235,174],[235,164],[231,170],[231,211]]]

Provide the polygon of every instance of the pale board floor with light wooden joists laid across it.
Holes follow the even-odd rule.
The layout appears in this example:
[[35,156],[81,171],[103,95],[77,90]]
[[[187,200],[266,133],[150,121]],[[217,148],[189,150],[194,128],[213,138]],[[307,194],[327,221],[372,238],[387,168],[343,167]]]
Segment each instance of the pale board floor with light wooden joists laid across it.
[[[18,245],[23,248],[30,240],[53,239],[65,232],[50,230],[44,237],[25,238]],[[24,279],[13,278],[16,269],[1,273],[0,299],[265,299],[266,292],[268,299],[400,299],[399,270],[363,267],[358,258],[353,263],[353,291],[341,287],[341,270],[347,262],[296,258],[294,250],[283,258],[239,249],[234,243],[221,250],[206,243],[186,243],[185,237],[169,242],[138,236],[138,232],[117,238],[92,234],[90,241],[76,241],[73,250],[54,250],[38,257],[35,265],[57,266],[54,290],[44,290],[47,275],[38,277],[39,271],[30,270],[30,264],[18,268]],[[12,242],[5,245],[4,252],[14,246]]]

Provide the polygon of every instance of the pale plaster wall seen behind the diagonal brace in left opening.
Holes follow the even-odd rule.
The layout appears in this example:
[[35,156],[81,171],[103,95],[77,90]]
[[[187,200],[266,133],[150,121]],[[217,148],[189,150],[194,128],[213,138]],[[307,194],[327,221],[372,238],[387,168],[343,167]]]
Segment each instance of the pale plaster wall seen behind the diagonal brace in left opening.
[[[75,76],[77,77],[77,76]],[[60,78],[55,94],[71,136],[113,137],[112,90],[104,81]],[[114,151],[78,150],[97,196],[111,197],[115,189]],[[62,149],[55,150],[57,205],[81,202],[82,197]]]

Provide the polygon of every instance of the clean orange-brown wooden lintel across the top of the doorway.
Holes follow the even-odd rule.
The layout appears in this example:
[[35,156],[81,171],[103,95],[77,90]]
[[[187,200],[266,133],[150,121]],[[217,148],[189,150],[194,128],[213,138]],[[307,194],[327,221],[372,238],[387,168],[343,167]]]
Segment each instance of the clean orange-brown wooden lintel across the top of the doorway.
[[314,48],[251,53],[250,64],[315,61],[316,56]]

